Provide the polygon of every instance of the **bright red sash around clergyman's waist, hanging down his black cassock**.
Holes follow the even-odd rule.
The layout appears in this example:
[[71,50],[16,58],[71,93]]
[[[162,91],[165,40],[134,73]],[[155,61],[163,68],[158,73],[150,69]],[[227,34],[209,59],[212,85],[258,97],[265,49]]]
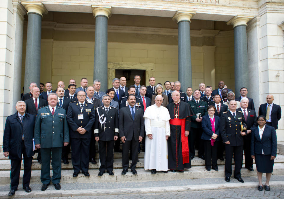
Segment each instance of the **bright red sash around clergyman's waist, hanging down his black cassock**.
[[183,164],[189,163],[189,149],[188,149],[188,138],[185,137],[185,119],[174,118],[170,120],[170,124],[181,126],[181,152],[183,154]]

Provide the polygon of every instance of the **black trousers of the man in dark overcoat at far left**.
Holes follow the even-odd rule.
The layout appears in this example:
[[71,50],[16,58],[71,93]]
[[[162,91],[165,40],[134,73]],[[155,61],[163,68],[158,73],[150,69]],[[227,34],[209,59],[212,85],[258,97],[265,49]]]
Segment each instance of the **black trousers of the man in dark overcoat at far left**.
[[[24,160],[24,175],[23,175],[23,187],[29,187],[30,186],[30,176],[32,174],[32,161],[33,156],[29,157],[27,156],[24,141],[21,143],[22,148],[22,154],[23,154],[23,160]],[[20,180],[20,170],[21,170],[21,164],[22,159],[11,159],[11,184],[10,188],[11,190],[17,190]]]

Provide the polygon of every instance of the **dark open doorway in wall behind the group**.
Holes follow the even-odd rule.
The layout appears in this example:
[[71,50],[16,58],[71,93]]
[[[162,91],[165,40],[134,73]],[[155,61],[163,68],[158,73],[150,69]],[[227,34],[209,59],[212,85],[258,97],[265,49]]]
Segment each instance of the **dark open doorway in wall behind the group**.
[[115,69],[115,77],[125,77],[126,86],[134,85],[134,76],[140,75],[140,85],[146,85],[146,70],[127,70],[127,69]]

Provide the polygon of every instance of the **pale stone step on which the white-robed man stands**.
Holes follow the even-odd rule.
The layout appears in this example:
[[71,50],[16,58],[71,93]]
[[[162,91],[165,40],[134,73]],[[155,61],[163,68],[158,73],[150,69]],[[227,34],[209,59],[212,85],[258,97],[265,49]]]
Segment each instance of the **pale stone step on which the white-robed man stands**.
[[[103,176],[98,176],[98,169],[89,170],[90,176],[86,177],[82,173],[78,177],[72,177],[72,170],[62,170],[62,177],[60,183],[92,183],[92,182],[141,182],[141,181],[157,181],[157,180],[179,180],[179,179],[200,179],[200,178],[217,178],[224,177],[224,166],[218,166],[219,171],[206,171],[204,166],[193,166],[190,169],[185,169],[184,173],[175,172],[168,173],[157,172],[156,174],[151,174],[150,170],[145,170],[143,168],[137,168],[137,175],[133,175],[130,169],[126,175],[121,175],[122,169],[114,169],[114,175],[104,174]],[[232,166],[234,170],[234,166]],[[234,171],[233,171],[234,172]],[[273,168],[273,175],[284,175],[284,163],[275,163]],[[52,176],[52,171],[51,174]],[[244,176],[257,176],[256,167],[254,165],[254,171],[249,171],[248,169],[241,169],[241,175]],[[10,184],[10,171],[0,171],[0,185]],[[22,182],[23,171],[20,172],[20,182]],[[40,183],[40,170],[33,170],[31,174],[30,183]]]

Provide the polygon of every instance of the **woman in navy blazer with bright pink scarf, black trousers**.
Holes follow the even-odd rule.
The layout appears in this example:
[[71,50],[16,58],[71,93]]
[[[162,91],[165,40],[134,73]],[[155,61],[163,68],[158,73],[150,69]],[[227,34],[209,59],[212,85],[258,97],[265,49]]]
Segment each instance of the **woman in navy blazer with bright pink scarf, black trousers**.
[[[202,135],[201,139],[204,140],[204,150],[205,150],[205,168],[210,171],[211,165],[215,171],[218,171],[217,166],[217,143],[219,141],[220,134],[220,118],[214,115],[216,108],[213,105],[207,108],[208,115],[202,117]],[[211,123],[212,120],[212,123]],[[214,121],[214,123],[213,123]],[[214,124],[214,125],[213,125]],[[214,127],[214,132],[212,128]]]

